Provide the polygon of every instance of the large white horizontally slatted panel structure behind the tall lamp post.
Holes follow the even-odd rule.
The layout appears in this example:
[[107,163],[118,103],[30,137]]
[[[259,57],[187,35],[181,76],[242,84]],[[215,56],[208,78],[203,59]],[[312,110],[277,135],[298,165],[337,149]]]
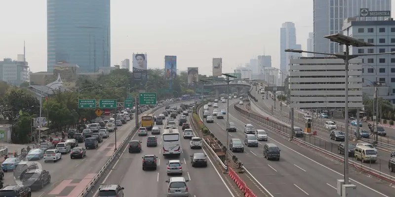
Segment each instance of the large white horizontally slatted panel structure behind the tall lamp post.
[[[362,108],[362,66],[350,60],[349,108]],[[305,58],[290,60],[291,107],[297,109],[345,108],[346,78],[343,59]]]

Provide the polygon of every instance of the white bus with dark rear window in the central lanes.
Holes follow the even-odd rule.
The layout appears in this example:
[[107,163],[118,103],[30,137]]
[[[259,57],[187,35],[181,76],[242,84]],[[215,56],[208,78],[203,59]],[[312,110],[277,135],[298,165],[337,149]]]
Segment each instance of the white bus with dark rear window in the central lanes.
[[178,129],[165,129],[162,133],[163,156],[181,155],[181,136]]

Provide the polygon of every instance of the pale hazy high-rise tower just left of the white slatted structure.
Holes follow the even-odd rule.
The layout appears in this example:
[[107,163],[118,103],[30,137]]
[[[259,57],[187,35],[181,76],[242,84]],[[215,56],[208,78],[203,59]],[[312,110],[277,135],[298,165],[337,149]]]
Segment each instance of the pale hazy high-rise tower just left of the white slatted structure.
[[296,44],[296,29],[292,22],[285,22],[280,28],[280,70],[287,74],[289,72],[289,59],[291,56],[296,58],[295,54],[285,52],[285,49],[299,49],[300,44]]

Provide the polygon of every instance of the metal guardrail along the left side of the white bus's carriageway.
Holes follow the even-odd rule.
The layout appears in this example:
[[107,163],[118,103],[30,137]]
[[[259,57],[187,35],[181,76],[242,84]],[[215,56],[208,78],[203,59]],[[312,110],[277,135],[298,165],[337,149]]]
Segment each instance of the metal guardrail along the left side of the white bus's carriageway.
[[[189,100],[191,100],[191,99],[189,99]],[[175,103],[185,102],[185,101],[188,101],[188,100],[180,100],[180,101],[172,102],[172,103],[169,103],[169,104],[175,104]],[[155,113],[158,109],[160,109],[162,107],[164,107],[164,105],[160,105],[160,106],[152,109],[151,113]],[[140,124],[141,124],[141,121],[139,122],[139,125]],[[85,197],[90,192],[90,190],[94,187],[96,182],[98,180],[100,180],[102,175],[107,171],[107,168],[113,164],[113,161],[116,158],[118,158],[118,154],[120,154],[121,149],[122,149],[122,148],[119,148],[119,147],[122,147],[122,146],[125,145],[125,143],[129,139],[129,137],[139,128],[139,125],[134,126],[134,128],[129,132],[129,134],[125,137],[125,139],[122,141],[122,143],[118,146],[118,149],[114,152],[114,154],[110,157],[110,159],[106,162],[106,164],[104,164],[104,166],[99,170],[99,172],[93,177],[93,179],[88,183],[88,185],[82,190],[82,192],[79,194],[78,197]]]

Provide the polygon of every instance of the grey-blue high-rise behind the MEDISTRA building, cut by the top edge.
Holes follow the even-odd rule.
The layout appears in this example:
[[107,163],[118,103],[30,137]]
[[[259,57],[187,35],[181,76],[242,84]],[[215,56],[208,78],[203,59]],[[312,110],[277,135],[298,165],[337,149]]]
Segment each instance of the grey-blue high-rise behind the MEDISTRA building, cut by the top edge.
[[[391,0],[313,0],[314,51],[342,53],[342,46],[323,36],[342,33],[344,19],[359,16],[360,8],[368,8],[369,11],[391,10]],[[384,18],[366,17],[365,20],[377,21]]]

